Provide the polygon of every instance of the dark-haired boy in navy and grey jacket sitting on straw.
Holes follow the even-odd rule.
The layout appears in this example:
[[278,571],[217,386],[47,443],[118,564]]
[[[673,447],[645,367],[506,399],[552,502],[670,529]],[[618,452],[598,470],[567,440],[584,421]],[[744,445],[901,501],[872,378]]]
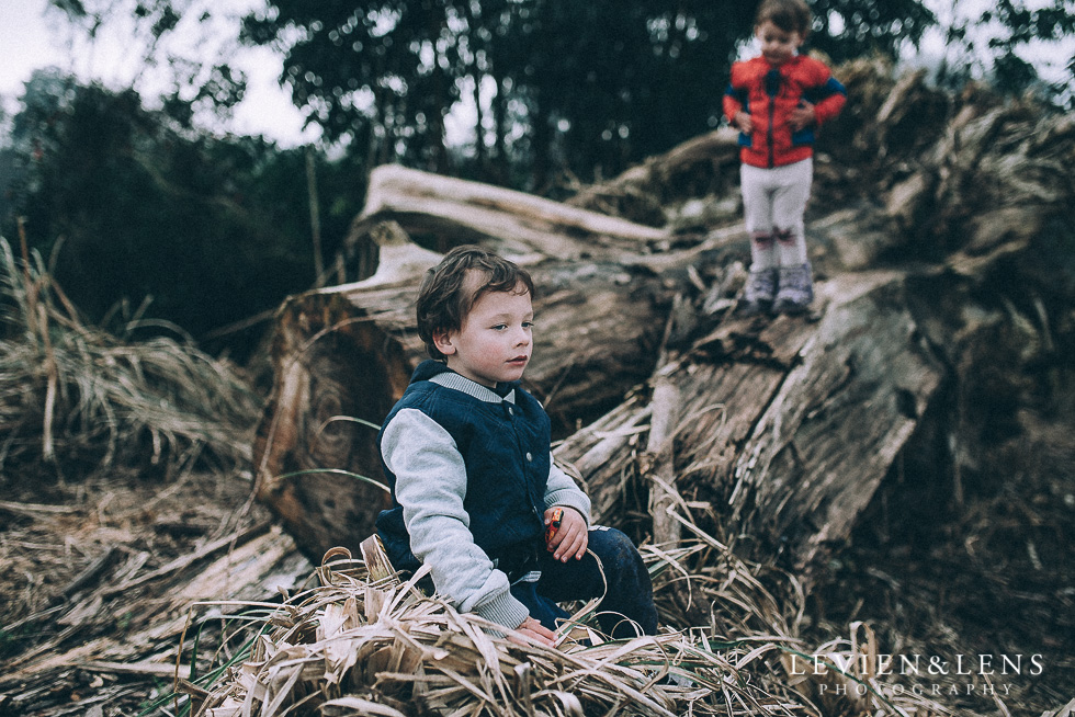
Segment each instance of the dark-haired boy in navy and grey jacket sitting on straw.
[[513,641],[553,645],[556,618],[568,616],[556,602],[601,594],[604,631],[656,634],[642,557],[623,533],[589,526],[589,499],[552,462],[548,417],[519,387],[533,293],[525,270],[477,247],[453,249],[427,273],[418,334],[432,360],[378,436],[393,508],[377,533],[396,568],[428,564],[439,593]]

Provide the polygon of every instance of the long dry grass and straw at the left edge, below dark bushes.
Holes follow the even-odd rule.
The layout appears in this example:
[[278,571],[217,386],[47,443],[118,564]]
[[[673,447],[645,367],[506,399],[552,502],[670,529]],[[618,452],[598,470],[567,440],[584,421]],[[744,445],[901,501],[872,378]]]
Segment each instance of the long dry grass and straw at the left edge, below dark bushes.
[[249,501],[260,414],[238,373],[189,341],[133,340],[137,316],[89,326],[20,249],[0,238],[0,659],[13,661],[122,631],[145,590],[111,587],[264,520],[230,505]]

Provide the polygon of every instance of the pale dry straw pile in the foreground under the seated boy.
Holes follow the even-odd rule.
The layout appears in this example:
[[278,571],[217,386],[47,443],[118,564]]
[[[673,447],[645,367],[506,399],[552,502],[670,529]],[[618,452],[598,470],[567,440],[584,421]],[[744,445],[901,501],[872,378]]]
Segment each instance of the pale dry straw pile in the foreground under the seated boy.
[[[840,664],[847,670],[793,679],[788,658],[804,648],[784,631],[788,622],[759,569],[717,548],[703,540],[644,553],[658,595],[682,578],[681,561],[714,566],[692,576],[700,578],[695,596],[711,603],[714,623],[728,626],[729,635],[664,628],[658,636],[606,640],[588,623],[593,601],[561,629],[557,648],[510,642],[497,626],[420,592],[421,573],[408,582],[381,577],[337,548],[316,571],[315,587],[285,596],[275,610],[247,606],[260,613],[245,628],[247,649],[212,665],[195,681],[201,684],[181,683],[179,692],[190,695],[182,706],[201,717],[943,713],[909,693],[893,696],[870,675],[869,645],[826,646],[828,653],[846,652]],[[849,659],[852,653],[859,659]]]

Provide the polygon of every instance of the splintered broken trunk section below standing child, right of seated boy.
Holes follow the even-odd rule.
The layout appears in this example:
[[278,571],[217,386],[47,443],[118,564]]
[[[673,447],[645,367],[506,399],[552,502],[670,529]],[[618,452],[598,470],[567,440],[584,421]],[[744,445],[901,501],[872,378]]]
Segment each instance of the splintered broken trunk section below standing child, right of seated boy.
[[[787,553],[808,580],[848,536],[943,375],[904,292],[898,274],[855,275],[825,285],[817,323],[725,321],[655,377],[652,402],[636,396],[555,455],[585,481],[598,521],[614,522],[624,483],[641,479],[664,511],[653,515],[655,539],[675,538],[670,522],[708,514],[714,534],[748,537],[755,559]],[[669,395],[680,397],[678,501],[666,498],[667,476],[650,469],[653,447],[640,445],[658,430]]]

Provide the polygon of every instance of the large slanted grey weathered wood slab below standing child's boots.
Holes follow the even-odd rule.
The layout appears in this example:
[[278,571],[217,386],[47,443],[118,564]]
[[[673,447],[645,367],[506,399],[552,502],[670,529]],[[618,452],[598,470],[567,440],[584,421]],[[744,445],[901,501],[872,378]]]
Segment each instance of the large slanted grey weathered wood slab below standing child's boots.
[[[765,358],[770,383],[754,402],[744,405],[742,390],[728,397],[728,443],[704,446],[706,423],[714,433],[721,424],[708,410],[715,401],[694,391],[688,410],[699,420],[681,434],[679,455],[684,482],[726,501],[728,535],[750,536],[759,559],[787,551],[804,579],[848,536],[944,374],[910,316],[901,275],[847,275],[823,288],[821,321],[777,344],[797,345],[793,361],[779,351]],[[689,383],[726,380],[706,373]]]

